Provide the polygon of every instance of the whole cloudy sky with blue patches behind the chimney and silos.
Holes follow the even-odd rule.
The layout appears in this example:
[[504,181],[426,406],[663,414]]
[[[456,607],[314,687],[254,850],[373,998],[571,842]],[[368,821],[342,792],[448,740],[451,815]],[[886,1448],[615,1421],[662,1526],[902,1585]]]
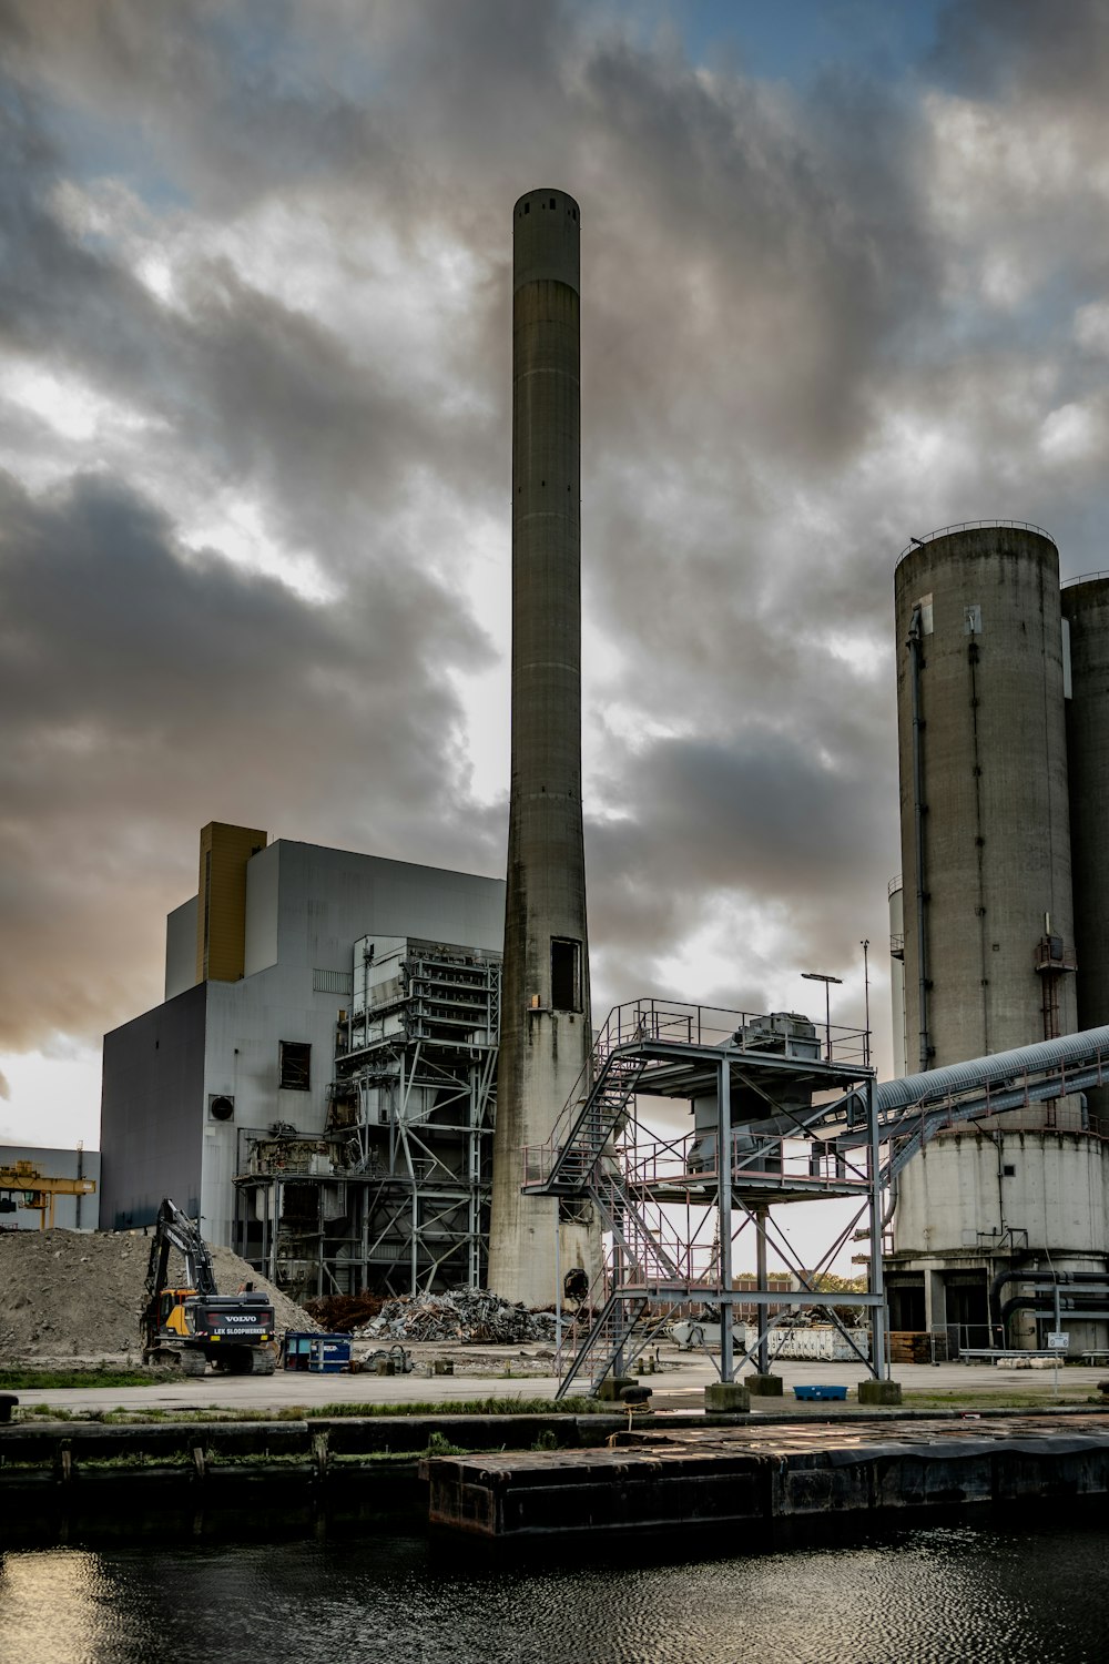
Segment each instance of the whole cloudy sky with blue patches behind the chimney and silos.
[[499,874],[512,203],[582,206],[597,1015],[871,942],[891,572],[1102,547],[1104,0],[0,0],[0,1137],[213,819]]

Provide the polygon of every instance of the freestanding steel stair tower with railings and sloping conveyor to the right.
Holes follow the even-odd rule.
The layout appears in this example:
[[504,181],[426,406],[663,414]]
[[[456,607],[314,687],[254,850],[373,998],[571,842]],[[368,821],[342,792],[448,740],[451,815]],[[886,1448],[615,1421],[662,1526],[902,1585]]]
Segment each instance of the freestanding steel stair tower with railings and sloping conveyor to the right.
[[[610,1013],[552,1140],[524,1153],[524,1191],[590,1198],[610,1241],[604,1278],[562,1348],[560,1394],[580,1374],[597,1389],[607,1373],[622,1373],[687,1301],[720,1308],[722,1381],[748,1359],[766,1371],[781,1345],[775,1336],[781,1308],[790,1306],[823,1308],[883,1379],[883,1191],[944,1127],[1102,1085],[1109,1027],[881,1085],[860,1062],[865,1055],[861,1030],[790,1013],[752,1017],[658,1000]],[[702,1115],[700,1135],[660,1137],[640,1115],[645,1097],[708,1103],[712,1132],[705,1133]],[[717,1151],[730,1151],[730,1160],[720,1161]],[[831,1196],[855,1198],[855,1216],[818,1266],[805,1268],[770,1208]],[[755,1240],[753,1291],[733,1278],[733,1246],[743,1231]],[[851,1236],[870,1241],[868,1288],[825,1291],[820,1273]],[[770,1288],[768,1245],[791,1270],[795,1293]],[[737,1358],[728,1318],[742,1303],[757,1305],[762,1316],[753,1343]],[[866,1351],[833,1308],[868,1318]]]

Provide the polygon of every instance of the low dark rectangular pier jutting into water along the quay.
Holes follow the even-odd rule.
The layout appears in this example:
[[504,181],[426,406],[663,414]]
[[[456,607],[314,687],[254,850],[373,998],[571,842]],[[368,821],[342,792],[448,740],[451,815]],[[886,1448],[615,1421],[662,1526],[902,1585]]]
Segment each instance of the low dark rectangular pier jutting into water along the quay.
[[[610,1449],[441,1458],[434,1528],[490,1543],[778,1523],[1109,1494],[1109,1416],[622,1433]],[[743,1538],[742,1528],[752,1536]]]

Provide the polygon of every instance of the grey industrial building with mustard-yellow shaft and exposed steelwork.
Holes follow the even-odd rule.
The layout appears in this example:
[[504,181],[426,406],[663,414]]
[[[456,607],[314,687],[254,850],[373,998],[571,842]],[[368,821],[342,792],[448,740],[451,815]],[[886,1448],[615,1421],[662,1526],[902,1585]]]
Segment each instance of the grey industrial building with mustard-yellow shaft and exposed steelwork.
[[298,1296],[484,1281],[504,882],[211,824],[105,1037],[100,1225],[163,1195]]

